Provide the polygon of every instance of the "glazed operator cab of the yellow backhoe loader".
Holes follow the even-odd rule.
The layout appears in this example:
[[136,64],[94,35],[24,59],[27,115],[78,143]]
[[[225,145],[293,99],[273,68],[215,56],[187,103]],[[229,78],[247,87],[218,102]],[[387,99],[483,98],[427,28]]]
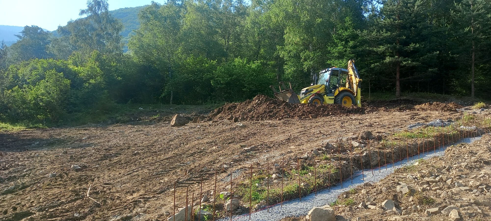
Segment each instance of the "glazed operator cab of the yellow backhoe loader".
[[[334,91],[341,85],[346,85],[348,70],[344,68],[327,68],[319,73],[316,84],[326,85],[327,96],[334,96]],[[351,88],[350,88],[351,89]]]

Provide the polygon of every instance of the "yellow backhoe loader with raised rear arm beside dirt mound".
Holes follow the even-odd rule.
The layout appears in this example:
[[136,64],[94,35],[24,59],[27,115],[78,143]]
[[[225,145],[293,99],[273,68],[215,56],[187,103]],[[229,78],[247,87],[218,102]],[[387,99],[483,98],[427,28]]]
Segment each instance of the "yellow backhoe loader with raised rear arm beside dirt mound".
[[[346,107],[357,105],[361,107],[361,94],[359,83],[361,82],[355,60],[348,61],[348,69],[332,67],[322,70],[314,77],[311,86],[305,87],[297,95],[292,90],[292,85],[287,88],[280,82],[279,91],[271,85],[274,96],[288,103],[302,104],[340,104]],[[282,88],[283,87],[283,88]]]

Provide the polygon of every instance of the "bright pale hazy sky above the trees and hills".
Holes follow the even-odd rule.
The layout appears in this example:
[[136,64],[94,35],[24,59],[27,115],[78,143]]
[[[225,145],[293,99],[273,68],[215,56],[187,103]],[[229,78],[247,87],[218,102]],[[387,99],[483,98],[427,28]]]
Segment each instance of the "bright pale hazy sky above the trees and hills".
[[[109,10],[150,4],[152,0],[108,0]],[[154,0],[164,3],[166,0]],[[86,0],[0,0],[0,25],[39,26],[50,31],[79,18]]]

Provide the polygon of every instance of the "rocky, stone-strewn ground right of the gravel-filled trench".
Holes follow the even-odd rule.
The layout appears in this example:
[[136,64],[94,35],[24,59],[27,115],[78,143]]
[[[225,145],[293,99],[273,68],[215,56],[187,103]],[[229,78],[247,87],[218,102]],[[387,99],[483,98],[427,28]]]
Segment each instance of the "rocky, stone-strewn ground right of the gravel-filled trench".
[[[333,206],[337,220],[490,221],[490,161],[489,134],[450,146],[443,157],[402,167],[379,183],[341,194]],[[400,189],[404,185],[408,193]],[[384,209],[385,200],[393,200],[397,209]],[[453,209],[457,212],[449,215]],[[302,220],[288,220],[293,219]]]

